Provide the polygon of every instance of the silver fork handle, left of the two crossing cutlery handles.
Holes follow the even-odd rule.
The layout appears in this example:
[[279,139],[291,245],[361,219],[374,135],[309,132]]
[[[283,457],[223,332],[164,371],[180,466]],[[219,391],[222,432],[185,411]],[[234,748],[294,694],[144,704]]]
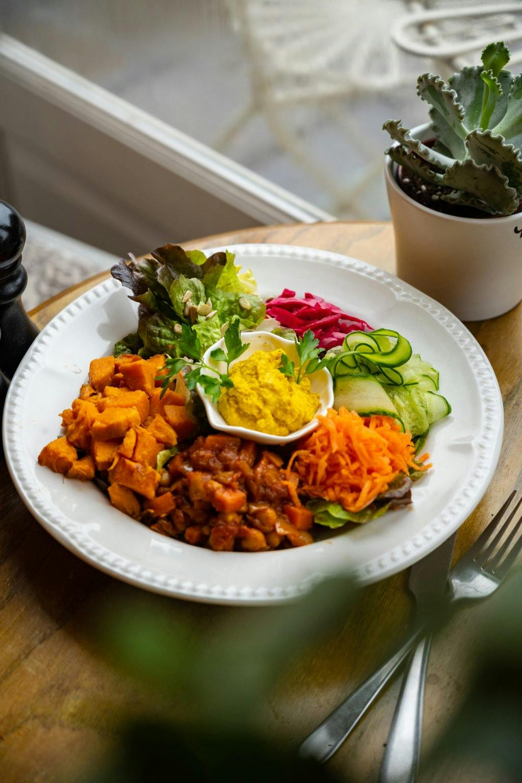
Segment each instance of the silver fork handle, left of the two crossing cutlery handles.
[[391,659],[380,669],[377,669],[308,735],[299,748],[301,757],[324,763],[337,752],[348,734],[353,731],[376,696],[380,694],[387,681],[398,669],[398,666],[404,661],[412,646],[419,640],[421,633],[423,633],[423,628],[416,628],[402,647],[392,655]]

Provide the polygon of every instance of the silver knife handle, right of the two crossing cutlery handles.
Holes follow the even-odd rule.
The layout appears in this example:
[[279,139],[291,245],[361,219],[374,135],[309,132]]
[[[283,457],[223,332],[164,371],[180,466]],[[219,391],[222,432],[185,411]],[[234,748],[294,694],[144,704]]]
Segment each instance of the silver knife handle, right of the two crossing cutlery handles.
[[431,636],[423,637],[409,659],[402,680],[379,783],[414,783],[423,731],[423,702]]

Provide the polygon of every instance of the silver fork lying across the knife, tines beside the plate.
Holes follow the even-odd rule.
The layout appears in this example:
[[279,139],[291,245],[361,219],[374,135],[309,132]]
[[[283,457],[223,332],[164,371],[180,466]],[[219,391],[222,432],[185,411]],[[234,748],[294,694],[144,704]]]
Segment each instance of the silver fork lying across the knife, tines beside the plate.
[[[449,603],[470,598],[485,598],[491,595],[505,579],[509,568],[517,559],[520,548],[522,548],[520,503],[522,503],[522,482],[519,479],[498,514],[495,514],[473,547],[449,572]],[[506,519],[507,512],[509,514]],[[511,527],[515,517],[517,519]],[[423,626],[415,626],[410,637],[391,656],[391,659],[384,663],[380,669],[377,669],[308,735],[299,749],[301,756],[324,763],[337,752],[376,696],[382,691],[384,685],[412,650],[413,645],[423,637],[423,631]],[[411,743],[412,748],[419,747],[418,740],[419,738],[417,738],[417,742]],[[400,758],[400,755],[400,752],[394,754],[394,759]],[[413,778],[404,779],[408,781]],[[387,779],[383,778],[383,780]],[[402,781],[402,778],[389,777],[388,780]]]

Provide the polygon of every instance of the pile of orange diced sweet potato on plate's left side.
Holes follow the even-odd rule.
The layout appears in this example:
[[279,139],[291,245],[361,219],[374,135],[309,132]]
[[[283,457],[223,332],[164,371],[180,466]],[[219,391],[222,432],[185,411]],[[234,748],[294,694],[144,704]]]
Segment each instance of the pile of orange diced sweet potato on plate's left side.
[[[60,414],[65,435],[41,450],[39,464],[81,481],[98,474],[110,485],[111,503],[139,518],[143,501],[153,500],[160,485],[158,454],[197,428],[181,377],[178,391],[167,389],[160,399],[156,378],[164,363],[164,355],[93,359],[88,384]],[[167,404],[177,409],[174,424],[166,417]]]

